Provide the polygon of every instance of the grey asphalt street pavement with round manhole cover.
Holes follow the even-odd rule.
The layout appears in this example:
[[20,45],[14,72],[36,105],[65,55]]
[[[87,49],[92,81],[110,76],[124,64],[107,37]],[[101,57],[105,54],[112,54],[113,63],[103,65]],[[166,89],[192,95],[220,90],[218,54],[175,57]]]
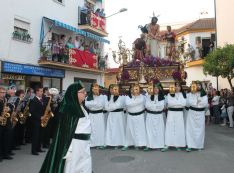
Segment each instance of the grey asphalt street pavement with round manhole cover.
[[[13,160],[0,163],[0,173],[38,173],[45,157],[30,155],[30,145],[15,151]],[[234,129],[210,125],[202,151],[96,150],[94,173],[228,173],[234,172]]]

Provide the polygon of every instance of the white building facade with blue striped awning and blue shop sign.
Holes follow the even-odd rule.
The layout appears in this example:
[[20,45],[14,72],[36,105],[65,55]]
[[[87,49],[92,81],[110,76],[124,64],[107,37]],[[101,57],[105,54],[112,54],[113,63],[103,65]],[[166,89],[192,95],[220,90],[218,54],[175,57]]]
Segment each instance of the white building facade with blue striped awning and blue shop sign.
[[74,81],[83,79],[87,86],[92,82],[104,85],[104,73],[98,68],[90,70],[53,62],[48,50],[44,53],[50,58],[39,61],[41,45],[51,44],[54,35],[65,35],[65,41],[81,35],[83,41],[98,43],[100,49],[108,43],[103,38],[106,33],[79,29],[79,10],[86,3],[92,3],[94,10],[104,8],[104,1],[96,3],[95,0],[0,1],[1,82],[6,86],[16,85],[17,89],[42,84],[65,90]]

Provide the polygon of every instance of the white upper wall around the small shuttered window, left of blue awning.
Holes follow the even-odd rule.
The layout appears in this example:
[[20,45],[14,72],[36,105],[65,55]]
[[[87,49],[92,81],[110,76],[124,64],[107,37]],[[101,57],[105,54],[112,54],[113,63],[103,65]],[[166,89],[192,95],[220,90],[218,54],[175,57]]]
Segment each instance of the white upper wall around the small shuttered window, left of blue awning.
[[[42,17],[64,22],[77,27],[78,4],[83,0],[65,0],[61,5],[55,0],[0,1],[0,58],[19,63],[37,64],[40,56],[39,39]],[[29,34],[33,42],[13,40],[14,18],[19,16],[30,22]]]

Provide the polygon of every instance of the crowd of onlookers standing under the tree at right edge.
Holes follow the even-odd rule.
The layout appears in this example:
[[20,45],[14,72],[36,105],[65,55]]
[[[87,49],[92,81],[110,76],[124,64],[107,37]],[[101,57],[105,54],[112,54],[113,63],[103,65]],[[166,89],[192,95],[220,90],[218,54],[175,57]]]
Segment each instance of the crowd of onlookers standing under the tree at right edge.
[[234,93],[227,88],[208,91],[209,108],[206,111],[206,124],[215,123],[233,128]]

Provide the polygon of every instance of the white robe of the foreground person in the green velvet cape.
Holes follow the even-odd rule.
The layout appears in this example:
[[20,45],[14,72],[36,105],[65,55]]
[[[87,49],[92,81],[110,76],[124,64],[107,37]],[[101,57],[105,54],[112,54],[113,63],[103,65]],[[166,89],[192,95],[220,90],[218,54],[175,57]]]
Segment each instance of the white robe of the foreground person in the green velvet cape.
[[[90,117],[83,107],[82,110],[85,113],[85,117],[79,119],[75,134],[90,134]],[[64,173],[91,173],[92,158],[90,153],[90,141],[72,139],[65,159]]]

